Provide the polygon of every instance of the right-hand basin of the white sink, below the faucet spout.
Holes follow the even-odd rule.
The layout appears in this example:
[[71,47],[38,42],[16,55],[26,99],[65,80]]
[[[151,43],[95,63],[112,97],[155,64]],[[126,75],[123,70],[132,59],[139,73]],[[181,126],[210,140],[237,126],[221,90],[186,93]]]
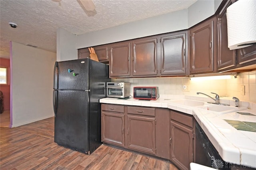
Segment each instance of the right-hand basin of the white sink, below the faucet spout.
[[234,107],[234,106],[223,106],[218,104],[204,104],[203,106],[197,106],[200,109],[209,110],[218,114],[230,113],[234,111],[244,110],[244,107]]

